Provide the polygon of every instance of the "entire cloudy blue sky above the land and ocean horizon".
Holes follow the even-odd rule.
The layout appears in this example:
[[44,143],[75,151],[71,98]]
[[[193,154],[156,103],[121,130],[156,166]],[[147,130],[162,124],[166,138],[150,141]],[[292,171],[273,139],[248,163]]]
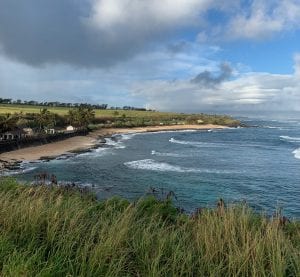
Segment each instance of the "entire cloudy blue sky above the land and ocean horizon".
[[300,0],[0,0],[0,97],[300,113]]

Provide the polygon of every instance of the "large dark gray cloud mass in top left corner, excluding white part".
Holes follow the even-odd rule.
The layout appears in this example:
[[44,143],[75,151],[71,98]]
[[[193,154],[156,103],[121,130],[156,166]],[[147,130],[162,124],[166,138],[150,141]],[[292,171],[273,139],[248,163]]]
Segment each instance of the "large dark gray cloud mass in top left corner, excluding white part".
[[67,63],[108,66],[142,45],[123,33],[110,37],[86,24],[90,0],[1,0],[0,45],[6,55],[30,65]]

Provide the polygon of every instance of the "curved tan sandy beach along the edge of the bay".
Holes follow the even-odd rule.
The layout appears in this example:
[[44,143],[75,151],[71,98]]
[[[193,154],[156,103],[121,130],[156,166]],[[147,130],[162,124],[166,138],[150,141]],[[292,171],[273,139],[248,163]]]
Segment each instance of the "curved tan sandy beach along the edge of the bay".
[[29,146],[26,148],[9,151],[0,154],[0,171],[15,168],[22,162],[34,162],[43,159],[55,159],[59,156],[89,151],[100,146],[99,140],[118,134],[147,133],[160,131],[184,131],[184,130],[208,130],[226,129],[227,126],[203,124],[203,125],[166,125],[148,126],[134,128],[103,128],[90,132],[86,136],[75,136],[61,141],[56,141],[39,146]]

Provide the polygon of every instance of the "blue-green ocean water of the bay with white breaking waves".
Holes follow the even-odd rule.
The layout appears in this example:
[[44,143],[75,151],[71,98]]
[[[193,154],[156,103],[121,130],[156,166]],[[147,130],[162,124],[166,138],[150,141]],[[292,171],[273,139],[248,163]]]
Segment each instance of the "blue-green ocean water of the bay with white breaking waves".
[[155,187],[174,191],[187,211],[223,197],[300,218],[300,121],[246,123],[259,127],[115,136],[88,153],[24,164],[18,178],[47,171],[99,198],[136,199]]

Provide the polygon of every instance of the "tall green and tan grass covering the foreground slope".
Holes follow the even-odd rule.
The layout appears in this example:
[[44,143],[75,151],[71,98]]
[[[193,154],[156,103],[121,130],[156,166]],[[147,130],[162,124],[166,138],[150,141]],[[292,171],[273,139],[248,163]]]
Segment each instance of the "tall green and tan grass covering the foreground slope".
[[300,224],[0,180],[3,276],[300,276]]

